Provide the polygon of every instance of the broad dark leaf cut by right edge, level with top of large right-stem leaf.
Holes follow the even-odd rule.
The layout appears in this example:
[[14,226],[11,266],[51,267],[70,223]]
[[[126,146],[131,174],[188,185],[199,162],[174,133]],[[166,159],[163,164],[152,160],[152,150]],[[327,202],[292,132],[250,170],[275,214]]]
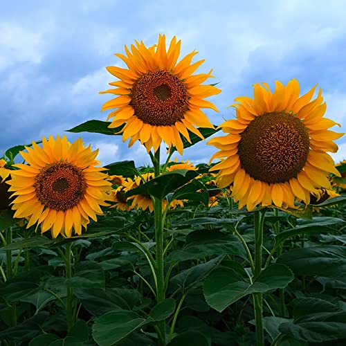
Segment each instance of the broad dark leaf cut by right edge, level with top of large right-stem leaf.
[[339,277],[346,271],[346,247],[339,245],[294,248],[283,253],[277,263],[286,264],[294,273]]

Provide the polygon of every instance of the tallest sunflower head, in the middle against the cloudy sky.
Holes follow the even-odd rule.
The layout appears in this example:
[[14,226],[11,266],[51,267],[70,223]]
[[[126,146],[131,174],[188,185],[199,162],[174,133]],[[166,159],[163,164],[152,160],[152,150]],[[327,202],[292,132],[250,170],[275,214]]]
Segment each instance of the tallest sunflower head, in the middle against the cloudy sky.
[[122,140],[129,140],[129,147],[136,140],[145,145],[147,152],[154,152],[164,140],[169,147],[176,147],[183,154],[181,134],[190,143],[188,130],[203,139],[194,126],[214,128],[201,108],[218,111],[212,102],[203,100],[221,90],[212,85],[202,85],[209,73],[192,75],[204,62],[191,64],[196,51],[186,55],[177,63],[181,41],[174,36],[166,50],[165,35],[159,35],[158,44],[147,48],[143,42],[125,46],[127,55],[116,54],[128,69],[109,66],[107,70],[119,80],[109,83],[114,89],[102,91],[118,95],[106,102],[102,111],[112,111],[110,128],[125,125],[120,133]]

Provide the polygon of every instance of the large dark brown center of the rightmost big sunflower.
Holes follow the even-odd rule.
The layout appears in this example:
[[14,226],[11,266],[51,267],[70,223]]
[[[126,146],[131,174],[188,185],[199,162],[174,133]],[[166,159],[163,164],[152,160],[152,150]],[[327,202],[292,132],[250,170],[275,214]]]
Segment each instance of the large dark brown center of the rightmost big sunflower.
[[307,162],[309,134],[291,113],[273,112],[257,116],[239,141],[244,170],[266,183],[284,183],[296,177]]

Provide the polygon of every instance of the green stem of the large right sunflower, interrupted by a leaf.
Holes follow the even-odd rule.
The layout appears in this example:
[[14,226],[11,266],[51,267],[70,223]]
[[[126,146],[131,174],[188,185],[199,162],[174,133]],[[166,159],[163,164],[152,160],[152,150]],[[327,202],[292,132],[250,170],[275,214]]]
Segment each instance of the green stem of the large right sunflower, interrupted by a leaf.
[[[255,270],[253,276],[257,277],[262,271],[262,244],[263,244],[263,224],[264,213],[254,212],[255,219]],[[255,309],[255,325],[257,346],[264,346],[263,318],[262,318],[262,293],[253,294],[253,307]]]

